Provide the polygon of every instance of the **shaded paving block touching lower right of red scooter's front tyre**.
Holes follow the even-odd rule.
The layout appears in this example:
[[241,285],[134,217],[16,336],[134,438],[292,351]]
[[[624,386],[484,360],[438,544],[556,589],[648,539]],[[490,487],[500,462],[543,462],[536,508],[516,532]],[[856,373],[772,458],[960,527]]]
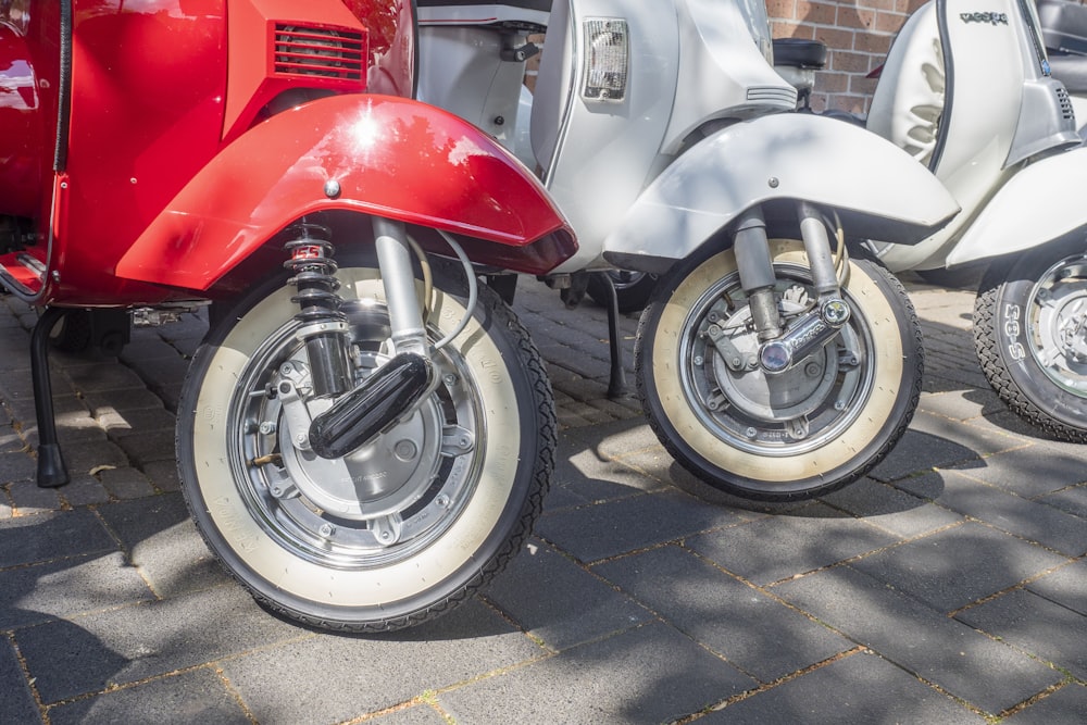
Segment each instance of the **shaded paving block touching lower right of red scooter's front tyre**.
[[552,650],[644,624],[652,615],[592,574],[534,539],[485,596]]

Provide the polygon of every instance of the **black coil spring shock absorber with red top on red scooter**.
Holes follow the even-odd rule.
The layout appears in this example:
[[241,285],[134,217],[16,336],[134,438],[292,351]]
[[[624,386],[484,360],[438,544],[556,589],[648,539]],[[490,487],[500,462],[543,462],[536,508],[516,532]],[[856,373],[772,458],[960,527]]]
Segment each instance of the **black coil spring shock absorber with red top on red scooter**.
[[298,289],[290,301],[300,308],[295,315],[300,324],[296,335],[305,342],[309,353],[313,395],[340,396],[351,388],[350,326],[340,311],[343,300],[336,293],[339,267],[333,259],[336,249],[330,241],[332,230],[302,221],[288,232],[295,238],[284,245],[284,251],[290,254],[284,267],[291,273],[287,284]]

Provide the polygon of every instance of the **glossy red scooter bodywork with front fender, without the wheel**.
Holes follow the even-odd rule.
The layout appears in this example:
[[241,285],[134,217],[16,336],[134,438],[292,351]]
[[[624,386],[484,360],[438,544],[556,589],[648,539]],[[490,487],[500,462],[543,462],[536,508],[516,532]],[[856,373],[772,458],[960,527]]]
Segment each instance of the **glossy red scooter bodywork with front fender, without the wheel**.
[[407,100],[405,0],[72,0],[70,39],[67,5],[0,10],[0,284],[28,301],[225,297],[278,266],[243,264],[278,232],[336,209],[522,272],[573,251],[520,164]]

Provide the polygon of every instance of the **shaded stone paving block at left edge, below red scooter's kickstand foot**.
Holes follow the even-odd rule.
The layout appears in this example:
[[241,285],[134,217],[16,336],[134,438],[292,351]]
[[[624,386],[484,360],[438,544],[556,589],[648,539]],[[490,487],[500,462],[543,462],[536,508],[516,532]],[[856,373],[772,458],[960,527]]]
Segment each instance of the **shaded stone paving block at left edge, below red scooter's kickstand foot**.
[[0,567],[116,549],[116,542],[86,509],[16,516],[0,522]]

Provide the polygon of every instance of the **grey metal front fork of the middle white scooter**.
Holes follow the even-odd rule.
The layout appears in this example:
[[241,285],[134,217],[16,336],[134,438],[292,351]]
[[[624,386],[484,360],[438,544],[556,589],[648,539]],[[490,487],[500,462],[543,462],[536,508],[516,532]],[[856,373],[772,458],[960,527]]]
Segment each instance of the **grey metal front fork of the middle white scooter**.
[[783,328],[777,307],[777,277],[762,209],[755,207],[740,216],[735,237],[740,285],[748,296],[760,341],[759,364],[769,374],[784,373],[824,347],[850,317],[849,305],[841,298],[830,237],[822,214],[801,201],[797,202],[797,216],[817,299],[788,329]]

